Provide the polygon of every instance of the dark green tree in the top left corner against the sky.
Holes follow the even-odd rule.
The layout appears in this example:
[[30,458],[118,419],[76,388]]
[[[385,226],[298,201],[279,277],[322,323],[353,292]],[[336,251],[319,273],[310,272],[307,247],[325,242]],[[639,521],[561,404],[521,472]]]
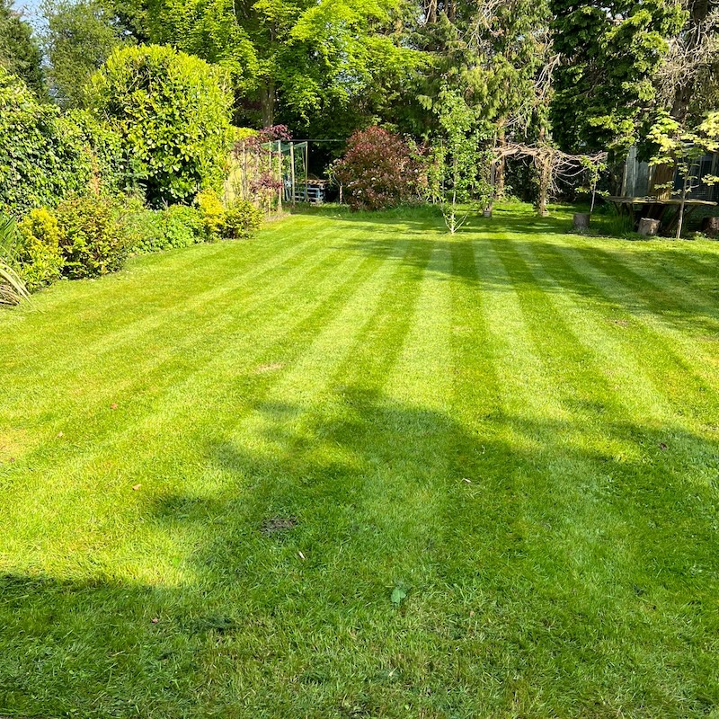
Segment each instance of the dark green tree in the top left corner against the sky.
[[30,24],[13,10],[13,0],[0,0],[0,67],[22,78],[38,97],[45,96],[40,45]]

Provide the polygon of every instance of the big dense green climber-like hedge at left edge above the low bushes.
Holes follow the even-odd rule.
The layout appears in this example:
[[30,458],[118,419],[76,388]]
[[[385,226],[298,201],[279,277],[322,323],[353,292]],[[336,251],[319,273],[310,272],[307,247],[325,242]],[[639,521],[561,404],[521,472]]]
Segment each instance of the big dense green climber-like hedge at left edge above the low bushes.
[[23,214],[54,207],[95,184],[117,186],[126,172],[120,138],[87,113],[61,117],[0,67],[0,208]]

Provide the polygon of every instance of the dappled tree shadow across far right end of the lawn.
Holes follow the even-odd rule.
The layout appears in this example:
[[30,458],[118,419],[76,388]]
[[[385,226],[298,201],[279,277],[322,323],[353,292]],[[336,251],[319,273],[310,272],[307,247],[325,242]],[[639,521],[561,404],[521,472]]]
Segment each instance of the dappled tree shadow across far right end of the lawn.
[[[713,287],[719,289],[713,266],[694,267],[681,280],[685,291],[682,295],[675,290],[673,280],[657,275],[652,262],[644,265],[647,276],[641,274],[641,262],[640,273],[632,271],[629,260],[636,261],[632,248],[615,247],[613,253],[608,254],[602,247],[602,238],[597,238],[594,245],[575,247],[545,239],[547,234],[557,233],[563,220],[528,218],[507,212],[506,217],[496,220],[479,218],[479,223],[491,224],[466,228],[453,237],[442,232],[439,226],[427,225],[431,213],[417,222],[409,220],[409,224],[401,218],[386,219],[384,213],[377,218],[367,217],[369,214],[354,217],[345,213],[339,217],[365,226],[368,236],[352,235],[351,239],[336,245],[338,250],[391,258],[404,264],[414,262],[417,271],[431,278],[458,282],[477,290],[562,294],[604,310],[608,320],[656,317],[705,337],[719,335],[719,295],[708,291]],[[413,227],[412,232],[408,226]],[[392,228],[391,232],[386,231],[387,227]],[[415,247],[431,247],[439,255],[451,256],[453,261],[427,268],[423,259],[413,261],[405,256],[403,237],[409,237]],[[487,258],[492,257],[499,263],[488,262]],[[584,265],[578,269],[573,261]],[[652,282],[652,276],[659,281]],[[621,296],[617,294],[617,287],[622,291]],[[701,300],[701,306],[697,306],[695,298]]]

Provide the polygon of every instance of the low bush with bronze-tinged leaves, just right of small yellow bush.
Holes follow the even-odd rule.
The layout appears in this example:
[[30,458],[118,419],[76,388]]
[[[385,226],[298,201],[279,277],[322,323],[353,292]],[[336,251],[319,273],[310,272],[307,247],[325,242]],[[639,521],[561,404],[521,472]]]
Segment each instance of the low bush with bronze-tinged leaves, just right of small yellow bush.
[[58,205],[60,248],[71,279],[119,270],[129,252],[115,203],[102,195],[76,197]]

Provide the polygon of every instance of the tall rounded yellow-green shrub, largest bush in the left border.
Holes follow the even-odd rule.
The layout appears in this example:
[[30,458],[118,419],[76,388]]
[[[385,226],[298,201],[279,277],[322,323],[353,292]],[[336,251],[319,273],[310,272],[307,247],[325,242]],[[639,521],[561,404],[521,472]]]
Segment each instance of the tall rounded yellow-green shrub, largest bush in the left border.
[[169,47],[116,49],[89,101],[119,131],[151,205],[221,185],[232,105],[223,70]]

